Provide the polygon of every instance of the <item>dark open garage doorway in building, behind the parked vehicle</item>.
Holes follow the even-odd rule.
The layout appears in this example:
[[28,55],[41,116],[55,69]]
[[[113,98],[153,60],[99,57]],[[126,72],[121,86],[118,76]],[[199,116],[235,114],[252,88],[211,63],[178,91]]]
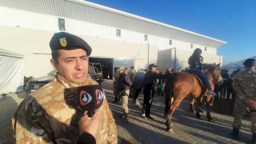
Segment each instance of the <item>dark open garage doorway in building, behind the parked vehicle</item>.
[[[89,62],[100,63],[104,79],[112,79],[113,76],[113,58],[89,57]],[[109,78],[108,78],[109,77]]]

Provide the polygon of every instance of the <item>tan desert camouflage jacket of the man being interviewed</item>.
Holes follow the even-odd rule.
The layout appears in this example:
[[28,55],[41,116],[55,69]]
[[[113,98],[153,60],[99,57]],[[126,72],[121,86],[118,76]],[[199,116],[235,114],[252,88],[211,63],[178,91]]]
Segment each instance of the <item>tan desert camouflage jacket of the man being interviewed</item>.
[[[98,85],[88,80],[82,85]],[[78,90],[79,86],[56,75],[54,81],[27,96],[12,117],[16,143],[77,143],[79,126],[75,110],[66,103],[66,89]],[[109,105],[104,97],[99,117],[97,143],[117,143],[117,128]],[[87,111],[85,112],[87,113]]]

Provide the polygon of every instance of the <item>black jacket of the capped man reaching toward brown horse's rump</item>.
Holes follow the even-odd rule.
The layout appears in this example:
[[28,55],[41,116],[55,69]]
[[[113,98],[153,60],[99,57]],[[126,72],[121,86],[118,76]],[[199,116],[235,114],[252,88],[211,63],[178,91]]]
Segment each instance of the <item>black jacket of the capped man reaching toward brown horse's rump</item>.
[[154,84],[154,79],[163,79],[167,78],[170,75],[170,73],[167,74],[157,74],[154,73],[153,71],[149,70],[145,73],[144,77],[144,85],[145,85],[145,90],[152,90],[153,84]]

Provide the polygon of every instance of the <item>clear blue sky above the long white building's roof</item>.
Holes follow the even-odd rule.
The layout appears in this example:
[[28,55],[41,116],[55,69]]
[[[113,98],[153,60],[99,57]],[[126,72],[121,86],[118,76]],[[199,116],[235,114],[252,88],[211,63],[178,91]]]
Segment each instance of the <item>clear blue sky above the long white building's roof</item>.
[[225,41],[217,49],[223,64],[256,55],[255,0],[88,1]]

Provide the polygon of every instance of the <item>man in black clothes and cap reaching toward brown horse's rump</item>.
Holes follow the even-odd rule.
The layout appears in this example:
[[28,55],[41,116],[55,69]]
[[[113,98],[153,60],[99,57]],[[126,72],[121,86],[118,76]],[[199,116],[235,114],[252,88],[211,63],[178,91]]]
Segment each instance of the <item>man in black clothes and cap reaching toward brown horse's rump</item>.
[[[150,107],[152,105],[153,100],[153,90],[154,90],[154,79],[163,79],[167,78],[170,74],[159,74],[156,73],[156,65],[150,64],[149,71],[146,72],[144,77],[144,99],[143,99],[143,107],[142,107],[142,115],[145,114],[146,119],[154,119],[150,117]],[[145,113],[144,113],[145,111]]]

